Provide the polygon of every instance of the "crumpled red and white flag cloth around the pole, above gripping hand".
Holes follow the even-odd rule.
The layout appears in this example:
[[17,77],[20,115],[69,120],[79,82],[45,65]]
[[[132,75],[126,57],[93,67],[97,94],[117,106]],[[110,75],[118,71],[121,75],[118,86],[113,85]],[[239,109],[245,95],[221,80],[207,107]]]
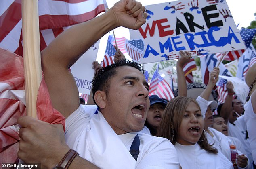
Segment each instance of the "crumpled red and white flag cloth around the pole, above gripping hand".
[[[0,48],[0,163],[14,163],[19,151],[17,119],[26,115],[23,57]],[[63,124],[65,118],[52,107],[50,94],[42,78],[36,101],[37,117],[51,124]]]

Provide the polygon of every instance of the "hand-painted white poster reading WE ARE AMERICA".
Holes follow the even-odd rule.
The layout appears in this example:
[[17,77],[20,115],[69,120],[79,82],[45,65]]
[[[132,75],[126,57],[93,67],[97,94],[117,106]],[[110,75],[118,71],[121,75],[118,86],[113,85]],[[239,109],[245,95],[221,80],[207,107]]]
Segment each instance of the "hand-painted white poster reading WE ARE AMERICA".
[[145,6],[147,22],[130,29],[142,39],[139,63],[176,59],[180,50],[206,55],[245,49],[225,0],[180,0]]

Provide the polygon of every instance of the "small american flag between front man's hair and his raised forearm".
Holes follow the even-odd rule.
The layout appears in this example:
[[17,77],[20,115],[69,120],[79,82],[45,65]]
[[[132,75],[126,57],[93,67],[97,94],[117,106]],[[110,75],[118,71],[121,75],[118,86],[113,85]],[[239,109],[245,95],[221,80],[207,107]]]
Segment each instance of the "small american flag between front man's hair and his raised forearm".
[[108,41],[107,41],[107,47],[106,47],[105,55],[104,55],[104,58],[103,58],[102,67],[106,67],[107,65],[111,65],[115,62],[114,61],[114,56],[115,56],[116,49],[110,43],[109,40],[110,39],[108,39]]

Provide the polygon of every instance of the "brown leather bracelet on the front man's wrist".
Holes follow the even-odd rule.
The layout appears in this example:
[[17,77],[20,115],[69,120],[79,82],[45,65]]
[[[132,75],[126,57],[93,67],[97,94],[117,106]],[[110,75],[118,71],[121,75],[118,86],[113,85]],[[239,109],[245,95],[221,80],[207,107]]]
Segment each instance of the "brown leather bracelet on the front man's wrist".
[[70,149],[53,169],[67,169],[77,155],[78,152]]

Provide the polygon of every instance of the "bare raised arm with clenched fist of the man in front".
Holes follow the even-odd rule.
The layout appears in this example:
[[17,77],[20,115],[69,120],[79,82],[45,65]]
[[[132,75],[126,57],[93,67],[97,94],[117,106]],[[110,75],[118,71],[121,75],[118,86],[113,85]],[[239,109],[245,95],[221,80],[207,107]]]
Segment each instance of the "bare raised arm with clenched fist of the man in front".
[[42,70],[52,105],[65,118],[79,106],[76,82],[69,68],[96,41],[118,26],[138,29],[146,22],[145,7],[134,0],[121,0],[105,14],[61,33],[42,52]]

